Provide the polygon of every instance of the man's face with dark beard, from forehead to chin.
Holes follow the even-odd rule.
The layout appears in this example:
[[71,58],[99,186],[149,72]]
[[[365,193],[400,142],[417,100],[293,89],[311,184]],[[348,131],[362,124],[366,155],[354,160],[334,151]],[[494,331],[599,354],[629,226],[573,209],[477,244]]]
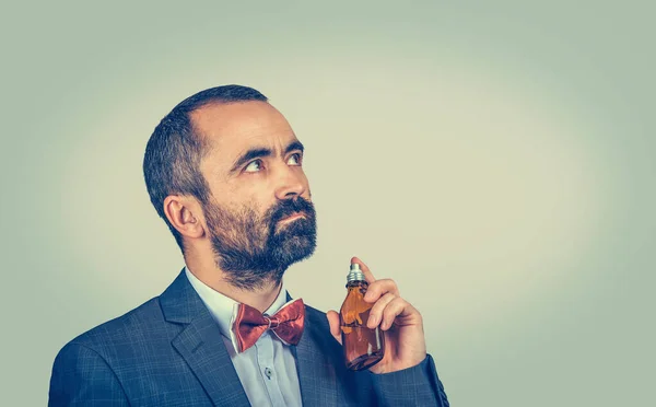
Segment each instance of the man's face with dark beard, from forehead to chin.
[[302,144],[265,102],[209,105],[191,120],[209,143],[200,171],[211,193],[203,211],[216,265],[241,288],[280,281],[316,246]]

